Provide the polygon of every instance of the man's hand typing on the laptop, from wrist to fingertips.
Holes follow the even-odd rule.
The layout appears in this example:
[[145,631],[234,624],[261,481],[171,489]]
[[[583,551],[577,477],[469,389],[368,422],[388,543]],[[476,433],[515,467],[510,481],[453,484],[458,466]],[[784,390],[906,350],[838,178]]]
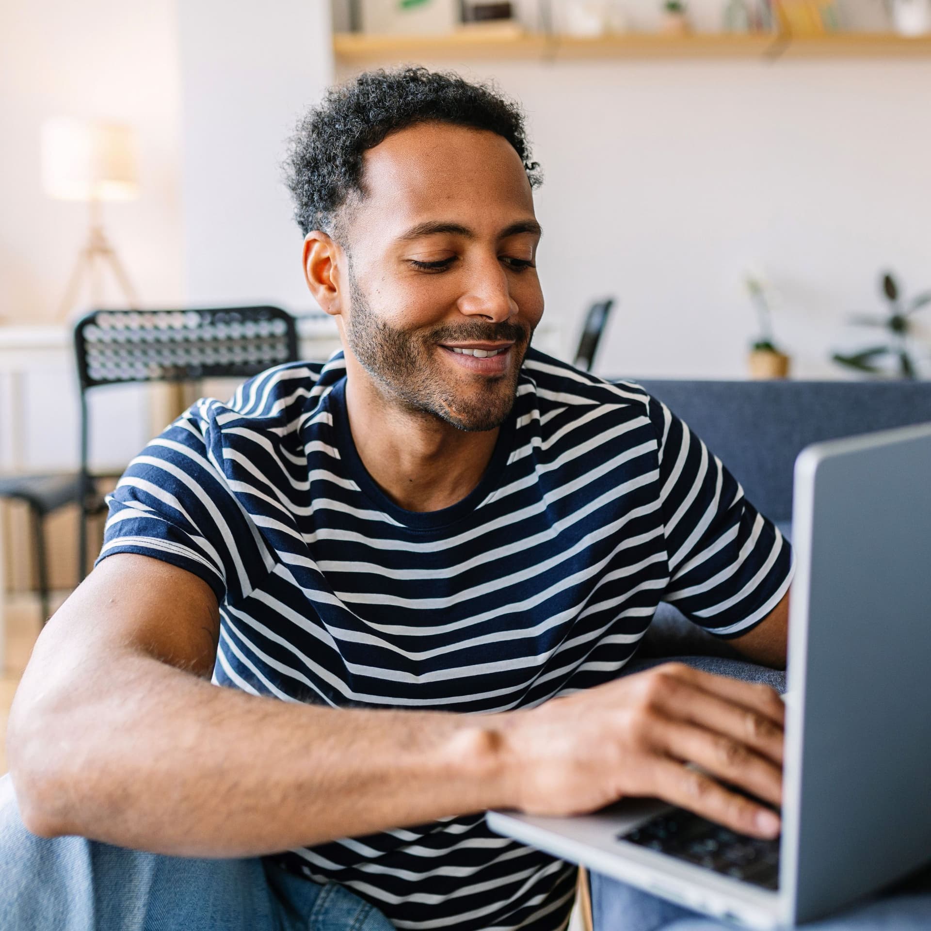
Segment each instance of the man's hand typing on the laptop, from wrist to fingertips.
[[778,817],[718,779],[780,804],[784,715],[765,685],[669,663],[507,716],[513,795],[521,811],[549,816],[655,796],[776,837]]

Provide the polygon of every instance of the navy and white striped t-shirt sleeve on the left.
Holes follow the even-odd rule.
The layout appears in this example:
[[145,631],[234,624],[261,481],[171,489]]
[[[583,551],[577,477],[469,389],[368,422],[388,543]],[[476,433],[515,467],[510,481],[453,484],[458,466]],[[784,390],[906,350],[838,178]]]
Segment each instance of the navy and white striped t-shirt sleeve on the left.
[[264,560],[254,527],[210,454],[205,408],[196,404],[152,440],[107,495],[97,562],[115,553],[163,560],[203,579],[223,602],[251,589],[246,566],[254,572]]

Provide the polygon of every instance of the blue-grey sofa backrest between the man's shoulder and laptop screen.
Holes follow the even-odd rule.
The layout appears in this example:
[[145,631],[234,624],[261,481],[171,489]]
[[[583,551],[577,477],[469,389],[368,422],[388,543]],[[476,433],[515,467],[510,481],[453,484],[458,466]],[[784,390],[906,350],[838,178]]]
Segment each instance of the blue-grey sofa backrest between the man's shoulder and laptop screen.
[[708,445],[749,500],[792,516],[795,457],[822,439],[931,421],[931,382],[640,381]]

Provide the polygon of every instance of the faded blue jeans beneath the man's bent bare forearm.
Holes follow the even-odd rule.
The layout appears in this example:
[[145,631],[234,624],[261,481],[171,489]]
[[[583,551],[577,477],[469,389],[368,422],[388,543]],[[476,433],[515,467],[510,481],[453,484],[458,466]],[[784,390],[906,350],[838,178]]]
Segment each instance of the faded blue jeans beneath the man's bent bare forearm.
[[0,778],[3,931],[394,931],[335,883],[317,885],[258,857],[159,857],[22,824]]

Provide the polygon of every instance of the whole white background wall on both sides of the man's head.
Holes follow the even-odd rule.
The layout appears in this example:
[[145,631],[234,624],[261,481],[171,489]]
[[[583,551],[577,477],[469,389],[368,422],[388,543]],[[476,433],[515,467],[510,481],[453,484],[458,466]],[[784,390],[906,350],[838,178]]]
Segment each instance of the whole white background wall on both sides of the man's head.
[[[331,81],[328,7],[0,5],[0,316],[50,319],[85,232],[39,183],[58,114],[139,128],[142,198],[106,221],[146,304],[309,307],[278,163]],[[879,307],[881,267],[931,287],[931,61],[433,63],[527,108],[550,326],[569,354],[588,301],[615,294],[601,371],[741,375],[748,265],[782,292],[776,335],[803,375],[872,342],[843,320]]]

